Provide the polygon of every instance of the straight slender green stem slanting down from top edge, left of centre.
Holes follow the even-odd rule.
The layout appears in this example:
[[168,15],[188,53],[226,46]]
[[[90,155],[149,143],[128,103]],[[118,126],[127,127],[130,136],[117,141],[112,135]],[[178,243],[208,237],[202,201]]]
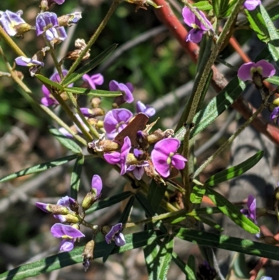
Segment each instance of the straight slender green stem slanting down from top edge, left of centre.
[[[80,61],[82,61],[82,58],[84,57],[84,55],[86,54],[86,52],[88,52],[90,50],[90,47],[93,45],[93,43],[96,42],[98,36],[100,35],[100,33],[103,31],[103,29],[105,28],[105,26],[107,25],[107,22],[110,20],[110,17],[112,16],[112,14],[114,13],[114,10],[116,9],[116,7],[119,5],[121,0],[114,0],[112,2],[112,6],[110,6],[110,9],[107,11],[107,15],[105,15],[103,21],[100,23],[100,25],[98,26],[98,29],[95,31],[95,33],[91,36],[91,38],[89,39],[89,42],[87,43],[86,47],[84,48],[84,50],[82,50],[80,57],[73,63],[73,65],[70,67],[67,75],[64,77],[63,80],[65,80],[66,78],[68,78],[68,76],[70,74],[72,74],[75,69],[77,68],[77,66],[80,64]],[[62,81],[63,83],[63,81]]]

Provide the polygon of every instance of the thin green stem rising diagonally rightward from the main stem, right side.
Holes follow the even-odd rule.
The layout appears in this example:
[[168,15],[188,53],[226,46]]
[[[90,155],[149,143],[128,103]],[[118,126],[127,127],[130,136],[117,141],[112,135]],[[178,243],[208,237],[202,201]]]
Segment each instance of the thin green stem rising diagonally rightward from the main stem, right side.
[[266,108],[266,102],[262,103],[262,105],[259,106],[257,111],[242,125],[239,127],[239,129],[234,133],[212,156],[209,156],[209,158],[201,165],[199,168],[195,171],[193,178],[197,177],[204,168],[206,168],[216,157],[223,152],[223,150],[234,141],[234,139],[246,128],[256,117],[259,115],[262,110]]

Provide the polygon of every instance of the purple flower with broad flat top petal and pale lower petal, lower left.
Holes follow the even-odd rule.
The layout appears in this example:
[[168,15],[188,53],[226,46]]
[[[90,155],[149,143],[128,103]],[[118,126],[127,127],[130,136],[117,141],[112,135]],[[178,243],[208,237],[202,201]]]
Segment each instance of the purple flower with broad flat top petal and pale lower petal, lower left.
[[73,226],[63,225],[63,223],[54,223],[50,232],[54,237],[63,238],[60,244],[60,251],[71,251],[74,248],[74,242],[77,238],[85,235]]

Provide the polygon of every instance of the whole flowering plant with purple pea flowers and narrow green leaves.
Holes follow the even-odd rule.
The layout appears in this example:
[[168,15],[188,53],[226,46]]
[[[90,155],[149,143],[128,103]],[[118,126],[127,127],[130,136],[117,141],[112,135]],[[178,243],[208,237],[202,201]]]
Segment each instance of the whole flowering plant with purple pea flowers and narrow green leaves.
[[[248,198],[241,203],[234,203],[213,189],[213,186],[250,170],[262,159],[264,152],[257,151],[248,159],[244,154],[243,161],[238,165],[224,168],[206,179],[201,174],[250,124],[254,124],[259,132],[277,145],[279,143],[276,127],[279,124],[279,98],[278,88],[274,86],[279,85],[279,77],[276,76],[279,47],[275,43],[279,35],[273,24],[277,18],[274,10],[279,9],[279,3],[273,3],[272,8],[266,10],[260,0],[182,0],[181,9],[175,15],[165,0],[126,1],[135,4],[136,10],[156,9],[158,17],[197,64],[190,97],[186,104],[180,104],[183,112],[179,112],[176,128],[160,128],[163,124],[159,121],[156,108],[140,100],[135,101],[137,87],[128,82],[125,76],[121,81],[116,79],[107,82],[105,73],[91,73],[116,47],[115,44],[111,45],[90,59],[93,44],[113,17],[116,7],[123,5],[121,1],[112,2],[87,43],[83,38],[75,38],[75,48],[62,58],[59,58],[59,48],[68,38],[68,27],[80,24],[83,20],[81,12],[56,14],[57,5],[66,5],[67,1],[40,1],[40,12],[36,15],[34,26],[24,20],[28,17],[22,10],[0,13],[1,42],[10,47],[15,61],[15,64],[8,61],[0,47],[8,71],[6,76],[24,91],[27,101],[36,104],[52,118],[56,128],[51,127],[50,133],[70,153],[60,159],[15,172],[0,179],[0,182],[43,172],[75,160],[66,192],[68,195],[60,198],[56,204],[40,199],[36,202],[40,210],[52,214],[58,220],[51,226],[50,233],[61,239],[59,251],[62,253],[3,272],[0,279],[34,277],[75,263],[82,263],[86,271],[94,265],[96,258],[103,257],[103,261],[106,261],[114,253],[139,247],[143,248],[149,279],[153,280],[168,279],[167,272],[172,262],[186,274],[186,279],[232,279],[230,276],[234,274],[238,274],[239,279],[240,274],[243,276],[241,279],[272,279],[272,275],[266,275],[268,272],[265,273],[263,269],[266,262],[262,260],[279,260],[276,247],[279,235],[266,236],[261,226],[266,217],[275,216],[279,220],[278,186],[274,186],[275,202],[272,209],[258,207],[257,199],[252,194],[248,194]],[[246,20],[243,21],[243,17]],[[118,20],[121,21],[121,17]],[[181,24],[181,20],[186,25]],[[186,31],[189,27],[190,30]],[[266,49],[255,61],[249,61],[244,54],[245,61],[237,66],[237,72],[236,66],[220,59],[220,52],[227,44],[235,43],[233,36],[236,29],[250,29],[266,44]],[[33,50],[30,57],[13,40],[13,37],[25,40],[27,32],[33,32],[35,38],[42,38],[43,42],[43,45],[38,44],[40,50]],[[241,50],[239,52],[243,54]],[[54,66],[50,77],[45,74],[46,57],[51,57]],[[73,64],[67,67],[69,61]],[[234,78],[229,82],[218,73],[215,66],[217,61],[234,69]],[[28,68],[29,73],[24,67]],[[32,79],[41,83],[39,98],[33,94],[32,85],[29,87],[28,82],[25,82],[24,75],[31,75]],[[144,79],[148,80],[149,76]],[[208,94],[210,83],[218,92],[217,96]],[[260,96],[261,103],[255,110],[250,110],[241,97],[248,85],[255,90],[255,96]],[[100,87],[109,90],[101,90]],[[84,105],[81,95],[86,97],[86,104],[90,105]],[[103,102],[103,98],[113,98],[110,99],[110,109],[107,108],[109,102],[107,99]],[[196,135],[230,105],[239,110],[246,121],[215,152],[209,151],[211,156],[203,159],[202,163],[196,161]],[[133,106],[135,112],[132,112]],[[274,125],[266,123],[263,128],[259,124],[259,115],[266,109]],[[100,170],[103,178],[93,175],[91,189],[82,198],[82,168],[89,163],[92,165],[91,170]],[[113,196],[106,197],[109,165],[119,173],[119,177],[126,180],[127,186],[125,191],[115,186],[118,192],[114,191]],[[63,170],[67,171],[65,168]],[[113,176],[114,182],[118,182],[116,175]],[[121,207],[121,216],[112,220],[111,224],[92,219],[92,213],[98,214],[98,210],[104,208],[106,213],[112,213],[113,216],[112,206],[123,200],[126,202]],[[135,219],[133,207],[139,208],[141,216],[145,218]],[[222,230],[214,214],[227,216],[243,232],[246,230],[251,233],[250,239],[205,230],[204,224],[213,230]],[[174,242],[177,240],[197,244],[201,253],[197,258],[199,262],[194,256],[188,256],[185,263],[174,252]],[[228,264],[227,275],[220,272],[213,248],[237,252]],[[261,257],[250,276],[245,272],[247,268],[243,268],[246,267],[245,263],[239,265],[243,254]]]

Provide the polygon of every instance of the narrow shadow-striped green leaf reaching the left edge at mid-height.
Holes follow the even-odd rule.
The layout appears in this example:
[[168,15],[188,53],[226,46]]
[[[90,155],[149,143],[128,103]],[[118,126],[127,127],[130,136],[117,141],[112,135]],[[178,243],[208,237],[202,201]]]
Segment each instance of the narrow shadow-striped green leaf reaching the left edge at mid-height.
[[71,156],[64,156],[63,158],[60,158],[60,159],[54,159],[53,161],[47,161],[46,163],[40,163],[40,164],[37,164],[37,165],[33,165],[29,168],[22,169],[20,171],[17,171],[13,174],[10,174],[8,176],[5,176],[5,177],[1,178],[0,183],[9,181],[11,179],[15,179],[17,177],[22,177],[22,176],[25,176],[25,175],[30,175],[30,174],[42,172],[42,171],[45,171],[47,169],[54,168],[56,166],[68,163],[69,161],[73,161],[73,159],[77,159],[76,154],[73,154]]

